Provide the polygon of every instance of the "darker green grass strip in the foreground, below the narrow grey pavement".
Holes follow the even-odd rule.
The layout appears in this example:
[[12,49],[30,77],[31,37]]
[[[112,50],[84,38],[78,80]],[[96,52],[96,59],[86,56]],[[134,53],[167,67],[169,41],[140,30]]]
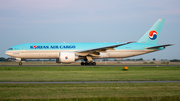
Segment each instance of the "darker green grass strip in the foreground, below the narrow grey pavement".
[[176,101],[180,83],[0,84],[0,98]]

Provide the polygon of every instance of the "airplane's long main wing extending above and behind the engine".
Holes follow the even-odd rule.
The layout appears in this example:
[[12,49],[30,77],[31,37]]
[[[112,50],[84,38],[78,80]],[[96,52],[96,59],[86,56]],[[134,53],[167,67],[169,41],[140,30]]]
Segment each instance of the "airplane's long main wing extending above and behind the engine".
[[133,42],[126,42],[123,44],[111,45],[111,46],[106,46],[106,47],[99,47],[99,48],[95,48],[95,49],[82,50],[82,51],[77,51],[77,53],[79,53],[79,54],[81,53],[81,55],[83,53],[85,53],[86,55],[87,54],[99,55],[99,52],[103,52],[106,50],[114,50],[114,48],[116,48],[116,47],[123,46],[123,45],[130,44],[130,43],[133,43]]

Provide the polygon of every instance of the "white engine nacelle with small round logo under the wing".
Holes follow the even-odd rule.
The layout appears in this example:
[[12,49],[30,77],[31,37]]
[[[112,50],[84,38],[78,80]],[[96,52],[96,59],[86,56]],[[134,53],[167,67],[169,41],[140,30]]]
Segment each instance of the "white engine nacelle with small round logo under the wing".
[[59,53],[59,62],[60,63],[71,63],[75,62],[76,55],[73,52],[60,52]]

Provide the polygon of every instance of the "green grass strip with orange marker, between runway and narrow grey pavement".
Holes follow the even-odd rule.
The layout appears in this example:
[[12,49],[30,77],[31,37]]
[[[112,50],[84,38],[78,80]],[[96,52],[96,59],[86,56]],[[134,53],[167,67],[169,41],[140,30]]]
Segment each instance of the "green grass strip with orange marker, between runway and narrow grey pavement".
[[180,67],[0,67],[0,81],[180,80]]

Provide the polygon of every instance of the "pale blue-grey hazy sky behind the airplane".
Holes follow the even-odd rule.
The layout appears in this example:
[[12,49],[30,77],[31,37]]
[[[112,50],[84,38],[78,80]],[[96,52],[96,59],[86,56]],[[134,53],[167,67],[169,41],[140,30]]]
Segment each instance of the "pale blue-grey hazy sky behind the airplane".
[[138,41],[165,19],[165,50],[133,58],[180,59],[179,0],[0,0],[0,57],[22,43]]

